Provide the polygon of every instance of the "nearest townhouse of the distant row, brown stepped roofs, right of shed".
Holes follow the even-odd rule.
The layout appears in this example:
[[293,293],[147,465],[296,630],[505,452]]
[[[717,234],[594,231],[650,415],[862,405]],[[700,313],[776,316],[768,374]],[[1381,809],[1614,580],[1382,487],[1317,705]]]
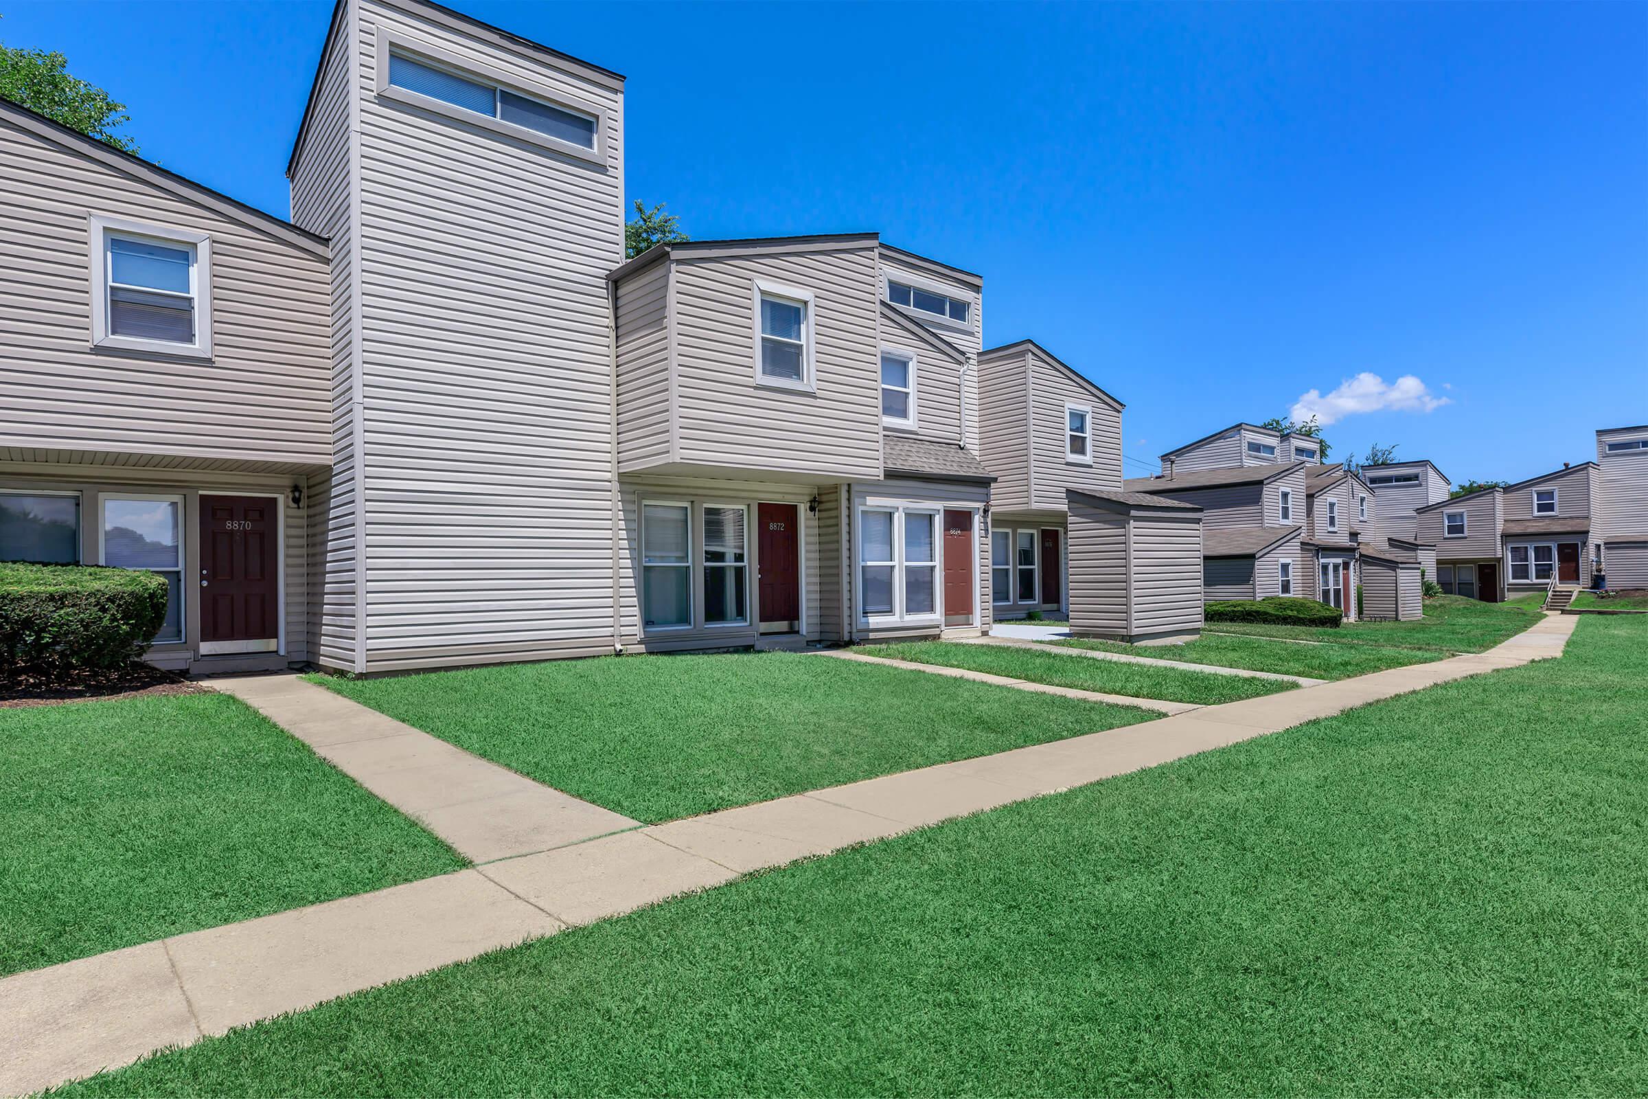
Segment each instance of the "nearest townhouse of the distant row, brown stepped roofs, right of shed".
[[1126,481],[1129,493],[1201,509],[1201,585],[1208,600],[1307,595],[1305,461],[1178,470]]

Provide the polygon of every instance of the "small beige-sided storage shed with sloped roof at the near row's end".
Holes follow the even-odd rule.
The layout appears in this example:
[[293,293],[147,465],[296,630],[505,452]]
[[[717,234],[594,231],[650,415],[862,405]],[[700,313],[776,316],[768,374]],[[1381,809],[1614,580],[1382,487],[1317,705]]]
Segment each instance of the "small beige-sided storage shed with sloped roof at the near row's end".
[[1201,633],[1201,509],[1150,493],[1066,493],[1070,631],[1111,641]]

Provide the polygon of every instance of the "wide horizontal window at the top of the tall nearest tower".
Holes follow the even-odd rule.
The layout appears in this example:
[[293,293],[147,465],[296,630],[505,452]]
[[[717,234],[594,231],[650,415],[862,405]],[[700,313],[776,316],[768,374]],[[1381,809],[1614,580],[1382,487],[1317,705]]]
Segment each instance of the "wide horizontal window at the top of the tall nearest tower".
[[504,87],[455,58],[422,43],[377,31],[377,94],[504,133],[534,145],[600,160],[600,110]]

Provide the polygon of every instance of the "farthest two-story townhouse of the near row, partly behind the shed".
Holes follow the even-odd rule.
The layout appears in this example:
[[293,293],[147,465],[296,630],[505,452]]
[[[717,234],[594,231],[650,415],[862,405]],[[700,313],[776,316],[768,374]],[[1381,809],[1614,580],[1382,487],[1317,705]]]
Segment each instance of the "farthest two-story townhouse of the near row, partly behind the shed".
[[1068,606],[1066,493],[1122,488],[1122,402],[1033,339],[979,356],[979,456],[990,494],[997,620]]

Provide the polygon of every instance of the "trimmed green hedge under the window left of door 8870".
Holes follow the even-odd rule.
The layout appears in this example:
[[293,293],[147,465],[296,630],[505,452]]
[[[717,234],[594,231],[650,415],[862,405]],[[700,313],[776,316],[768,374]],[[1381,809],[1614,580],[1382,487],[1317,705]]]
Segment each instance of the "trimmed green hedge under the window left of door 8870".
[[120,667],[166,620],[166,582],[102,565],[0,564],[0,674]]

